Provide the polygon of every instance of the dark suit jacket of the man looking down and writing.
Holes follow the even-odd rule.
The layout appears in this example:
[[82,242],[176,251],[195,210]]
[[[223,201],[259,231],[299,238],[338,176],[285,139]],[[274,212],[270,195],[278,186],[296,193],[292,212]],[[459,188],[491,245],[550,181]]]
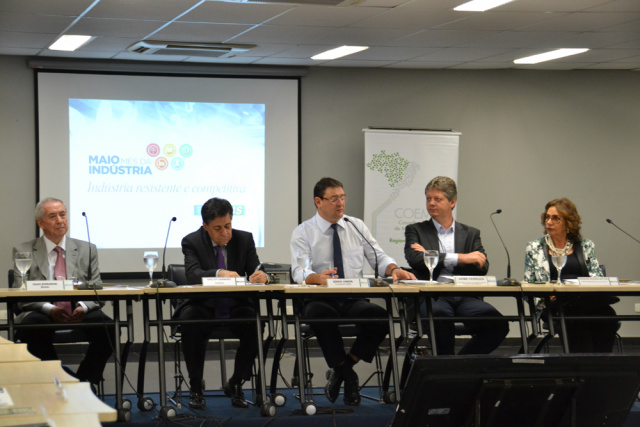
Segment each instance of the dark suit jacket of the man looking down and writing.
[[[233,230],[232,233],[231,240],[227,244],[227,268],[225,270],[235,271],[240,276],[251,276],[256,267],[260,265],[253,234],[242,230]],[[219,269],[218,259],[209,233],[204,228],[200,227],[182,239],[182,253],[184,254],[187,284],[199,285],[202,283],[203,277],[216,277],[216,272]],[[214,307],[214,300],[214,298],[179,300],[174,316],[178,316],[186,304],[205,304]],[[237,303],[238,299],[230,300],[232,306]]]

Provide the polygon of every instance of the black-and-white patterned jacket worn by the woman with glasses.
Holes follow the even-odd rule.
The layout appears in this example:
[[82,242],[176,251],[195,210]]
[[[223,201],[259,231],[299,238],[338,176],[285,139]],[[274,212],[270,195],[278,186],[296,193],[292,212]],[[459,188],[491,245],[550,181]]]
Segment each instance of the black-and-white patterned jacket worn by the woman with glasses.
[[[589,276],[603,276],[598,259],[596,258],[595,245],[591,240],[582,239],[580,241],[584,262],[589,272]],[[529,242],[527,244],[524,257],[524,281],[525,282],[548,282],[550,280],[549,260],[547,257],[548,248],[544,237]],[[580,257],[579,257],[580,259]],[[581,260],[581,262],[583,262]]]

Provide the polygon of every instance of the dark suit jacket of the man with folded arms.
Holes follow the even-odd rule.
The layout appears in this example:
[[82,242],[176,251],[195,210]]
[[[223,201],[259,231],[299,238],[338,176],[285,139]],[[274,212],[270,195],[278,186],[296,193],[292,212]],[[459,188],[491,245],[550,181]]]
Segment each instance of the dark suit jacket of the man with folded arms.
[[[467,254],[470,252],[482,252],[486,253],[482,247],[482,241],[480,240],[480,230],[477,228],[469,227],[456,221],[455,224],[455,242],[454,250],[456,253]],[[411,248],[413,243],[419,243],[426,250],[440,251],[440,244],[438,241],[438,231],[433,223],[432,219],[428,221],[418,222],[415,224],[407,225],[404,230],[405,244],[404,244],[404,256],[407,262],[413,269],[414,274],[418,279],[428,280],[429,269],[424,265],[424,258],[422,252],[417,252]],[[438,265],[433,270],[433,277],[437,279],[444,266],[444,252],[440,252],[438,259]],[[460,276],[484,276],[489,271],[489,260],[481,267],[478,264],[458,264],[453,269],[453,274]]]

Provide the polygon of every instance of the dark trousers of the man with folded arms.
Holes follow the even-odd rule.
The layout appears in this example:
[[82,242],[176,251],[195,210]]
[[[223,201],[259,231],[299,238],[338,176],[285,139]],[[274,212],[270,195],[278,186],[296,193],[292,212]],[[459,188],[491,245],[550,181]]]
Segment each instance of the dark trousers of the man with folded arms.
[[[435,317],[502,317],[491,304],[474,297],[438,297],[432,299]],[[427,304],[420,305],[420,315],[427,316]],[[509,333],[506,320],[465,320],[471,331],[471,339],[458,354],[489,354],[502,343]],[[438,355],[455,354],[455,322],[439,320],[435,323],[435,339]]]

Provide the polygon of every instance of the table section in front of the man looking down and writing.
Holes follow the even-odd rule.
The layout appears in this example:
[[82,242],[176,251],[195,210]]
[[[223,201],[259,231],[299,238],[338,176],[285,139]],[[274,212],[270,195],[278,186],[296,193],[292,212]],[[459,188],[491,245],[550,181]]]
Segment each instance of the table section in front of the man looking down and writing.
[[[142,344],[140,354],[140,366],[138,367],[138,395],[140,401],[138,403],[139,408],[148,408],[152,406],[147,404],[151,403],[148,397],[144,396],[144,371],[145,371],[145,359],[147,353],[147,347],[150,343],[150,329],[156,327],[157,330],[157,342],[158,342],[158,380],[160,389],[160,415],[163,418],[171,417],[175,411],[173,408],[167,406],[167,386],[166,386],[166,374],[165,374],[165,356],[164,356],[164,327],[181,325],[186,323],[211,323],[211,324],[229,324],[229,323],[254,323],[258,331],[258,336],[263,337],[262,323],[266,322],[268,326],[268,337],[273,337],[275,334],[275,327],[273,322],[272,300],[274,294],[283,290],[282,285],[240,285],[240,286],[202,286],[202,285],[185,285],[174,288],[144,288],[144,305],[143,305],[143,318],[144,318],[144,341]],[[256,316],[253,318],[233,318],[233,319],[211,319],[211,320],[177,320],[177,319],[164,319],[162,304],[165,301],[173,299],[185,299],[185,298],[213,298],[213,297],[226,297],[226,298],[244,298],[251,299],[256,302]],[[259,301],[264,300],[267,302],[267,314],[262,316],[259,310]],[[150,306],[155,303],[155,320],[151,317]],[[270,341],[270,339],[268,339]],[[262,402],[258,402],[260,406],[260,412],[264,416],[275,415],[275,406],[269,399],[266,398],[266,382],[265,382],[265,369],[264,369],[264,345],[263,340],[260,339],[258,343],[258,375],[260,379],[260,390],[258,391]],[[224,357],[224,355],[221,355]]]

